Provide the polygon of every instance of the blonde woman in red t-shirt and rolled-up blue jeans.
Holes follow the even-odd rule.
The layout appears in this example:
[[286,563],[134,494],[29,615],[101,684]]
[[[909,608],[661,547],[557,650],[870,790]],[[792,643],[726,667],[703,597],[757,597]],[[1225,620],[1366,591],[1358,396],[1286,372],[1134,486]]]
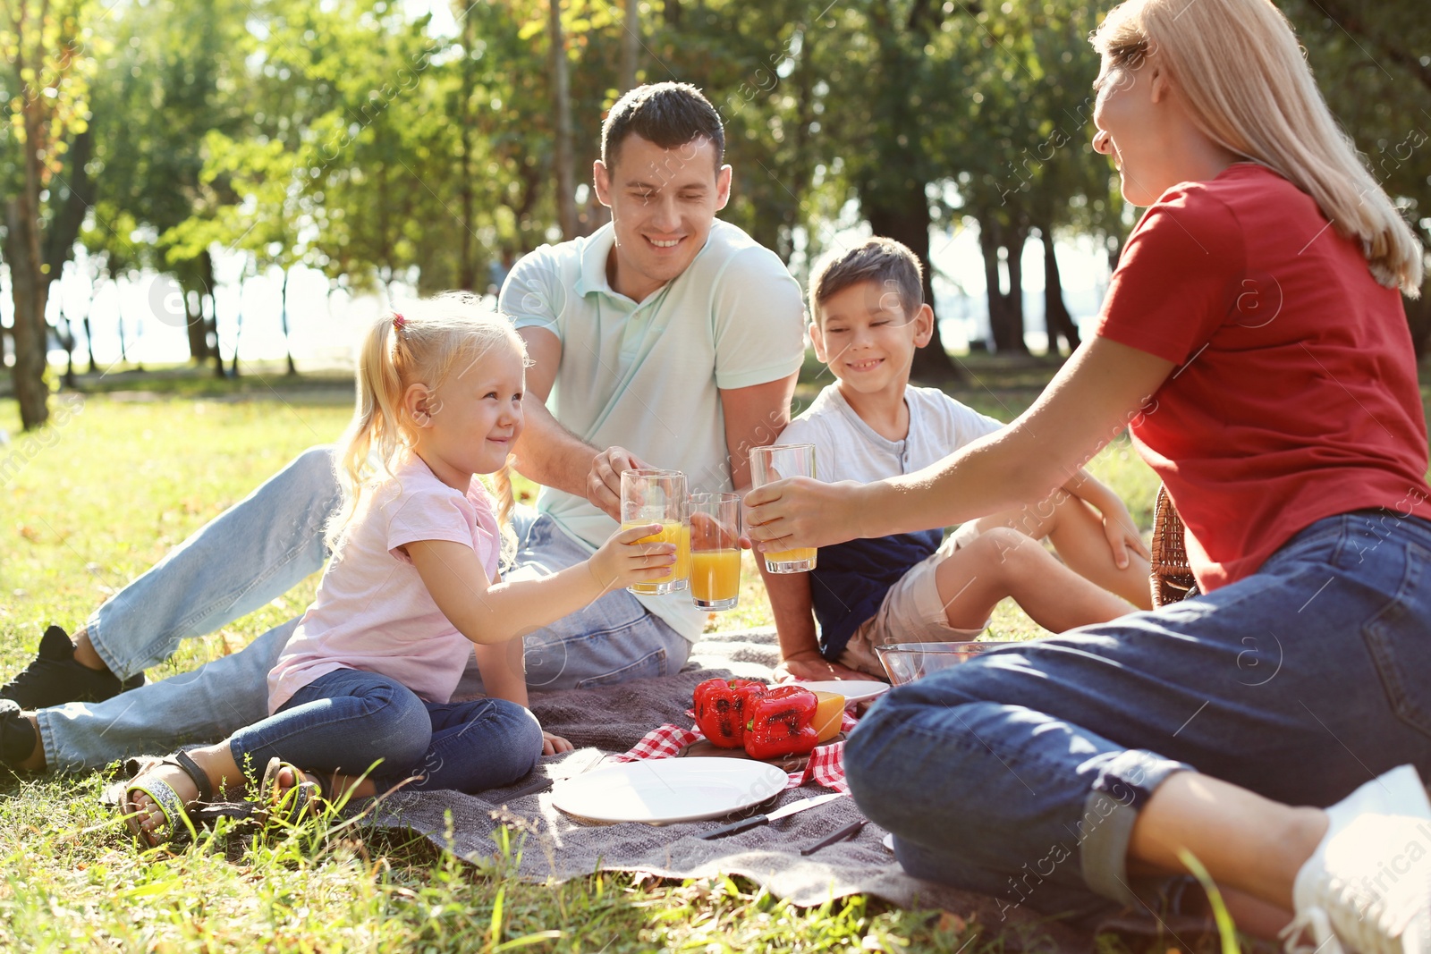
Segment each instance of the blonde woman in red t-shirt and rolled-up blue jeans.
[[1428,951],[1431,488],[1398,296],[1421,249],[1269,0],[1132,0],[1093,43],[1093,144],[1151,206],[1098,336],[923,472],[754,491],[751,536],[1042,499],[1130,425],[1206,595],[896,688],[846,749],[856,800],[907,870],[1007,907],[1156,904],[1188,850],[1245,928]]

